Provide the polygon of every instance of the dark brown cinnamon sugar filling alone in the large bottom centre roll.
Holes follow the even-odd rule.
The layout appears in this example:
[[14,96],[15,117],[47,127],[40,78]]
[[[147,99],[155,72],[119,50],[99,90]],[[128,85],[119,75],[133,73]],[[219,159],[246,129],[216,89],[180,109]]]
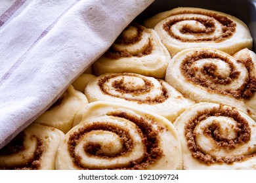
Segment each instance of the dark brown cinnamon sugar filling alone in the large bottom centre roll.
[[[142,158],[135,161],[127,161],[127,164],[123,165],[123,167],[117,168],[113,166],[110,169],[146,169],[146,167],[154,164],[158,158],[161,158],[161,156],[163,156],[163,152],[159,145],[160,140],[158,137],[158,133],[161,128],[156,130],[152,127],[152,124],[150,124],[146,119],[138,118],[137,116],[128,114],[127,112],[117,111],[112,112],[108,115],[118,118],[124,118],[136,124],[137,132],[142,139],[142,143],[144,143],[144,146],[146,146]],[[129,154],[129,152],[131,152],[133,148],[133,141],[129,135],[129,129],[125,129],[123,127],[120,128],[118,125],[109,124],[108,122],[94,122],[89,125],[84,125],[83,127],[80,127],[77,132],[74,132],[72,135],[70,135],[70,138],[68,140],[68,151],[77,169],[88,168],[86,165],[81,165],[80,156],[75,156],[75,146],[79,143],[83,135],[95,130],[111,131],[112,133],[116,133],[121,139],[123,149],[116,154],[104,154],[104,152],[100,150],[100,144],[90,142],[89,144],[83,145],[83,149],[88,156],[95,156],[103,159],[113,159],[120,156],[126,156],[126,154]],[[104,167],[102,167],[102,169],[104,169]]]

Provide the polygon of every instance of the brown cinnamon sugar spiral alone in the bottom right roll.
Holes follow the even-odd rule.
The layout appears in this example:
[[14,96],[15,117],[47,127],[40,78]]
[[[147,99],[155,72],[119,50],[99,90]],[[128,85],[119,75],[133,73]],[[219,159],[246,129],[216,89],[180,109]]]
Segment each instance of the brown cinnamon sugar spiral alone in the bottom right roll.
[[252,158],[256,156],[256,153],[251,155],[241,155],[241,156],[226,156],[225,158],[210,156],[209,154],[204,154],[200,149],[200,146],[196,144],[195,138],[197,134],[194,129],[202,120],[210,116],[225,116],[233,118],[237,125],[234,128],[234,131],[237,134],[236,139],[228,139],[223,137],[220,133],[220,125],[217,121],[213,122],[211,125],[203,127],[203,134],[211,138],[214,144],[219,146],[219,148],[234,149],[242,144],[245,144],[251,139],[251,128],[247,121],[239,114],[239,112],[234,108],[223,108],[223,105],[219,107],[213,107],[198,111],[195,116],[188,120],[187,124],[184,127],[184,136],[186,137],[188,148],[191,151],[192,157],[198,159],[202,163],[208,165],[213,163],[234,163],[236,161],[244,161],[245,159]]

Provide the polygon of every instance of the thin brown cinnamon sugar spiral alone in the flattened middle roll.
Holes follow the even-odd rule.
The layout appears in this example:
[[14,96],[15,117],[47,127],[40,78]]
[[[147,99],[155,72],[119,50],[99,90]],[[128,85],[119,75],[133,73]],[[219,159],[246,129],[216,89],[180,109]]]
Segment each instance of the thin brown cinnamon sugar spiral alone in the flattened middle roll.
[[[100,90],[106,94],[106,95],[111,95],[112,97],[118,97],[120,98],[119,95],[114,95],[110,92],[108,92],[107,90],[104,90],[104,84],[106,82],[108,82],[111,78],[115,78],[117,76],[123,76],[120,80],[115,80],[114,82],[112,82],[112,87],[114,88],[114,90],[116,90],[119,93],[133,93],[134,95],[142,95],[144,93],[148,93],[150,92],[150,90],[152,90],[152,88],[154,87],[154,85],[152,84],[152,82],[150,80],[147,80],[144,77],[138,76],[138,75],[133,75],[131,73],[116,73],[116,74],[111,74],[111,75],[106,75],[103,78],[100,78],[100,80],[98,80],[98,86],[100,87]],[[135,89],[127,89],[125,87],[125,83],[124,82],[124,77],[125,76],[134,76],[134,77],[139,77],[144,81],[144,86],[142,88],[140,88],[139,90],[135,90]],[[141,100],[141,99],[127,99],[124,96],[122,96],[121,98],[127,100],[127,101],[135,101],[137,103],[147,103],[147,104],[155,104],[155,103],[163,103],[168,97],[169,97],[169,92],[167,91],[167,89],[165,88],[165,86],[163,86],[162,82],[159,80],[160,84],[161,84],[161,95],[158,95],[154,98],[152,97],[146,97],[146,99]]]

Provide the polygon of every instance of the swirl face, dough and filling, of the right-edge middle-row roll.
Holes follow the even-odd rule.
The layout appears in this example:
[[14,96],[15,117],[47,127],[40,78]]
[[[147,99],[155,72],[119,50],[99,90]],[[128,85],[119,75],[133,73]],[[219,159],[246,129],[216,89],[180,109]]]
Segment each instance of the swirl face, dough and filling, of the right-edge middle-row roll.
[[210,50],[188,54],[180,66],[182,75],[196,85],[237,99],[255,93],[255,78],[243,63]]

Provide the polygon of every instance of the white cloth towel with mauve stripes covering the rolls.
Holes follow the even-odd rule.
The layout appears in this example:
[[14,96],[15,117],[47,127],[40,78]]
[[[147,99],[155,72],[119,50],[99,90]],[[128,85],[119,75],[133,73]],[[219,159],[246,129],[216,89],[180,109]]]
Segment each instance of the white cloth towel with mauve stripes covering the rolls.
[[2,0],[0,148],[50,107],[153,0]]

